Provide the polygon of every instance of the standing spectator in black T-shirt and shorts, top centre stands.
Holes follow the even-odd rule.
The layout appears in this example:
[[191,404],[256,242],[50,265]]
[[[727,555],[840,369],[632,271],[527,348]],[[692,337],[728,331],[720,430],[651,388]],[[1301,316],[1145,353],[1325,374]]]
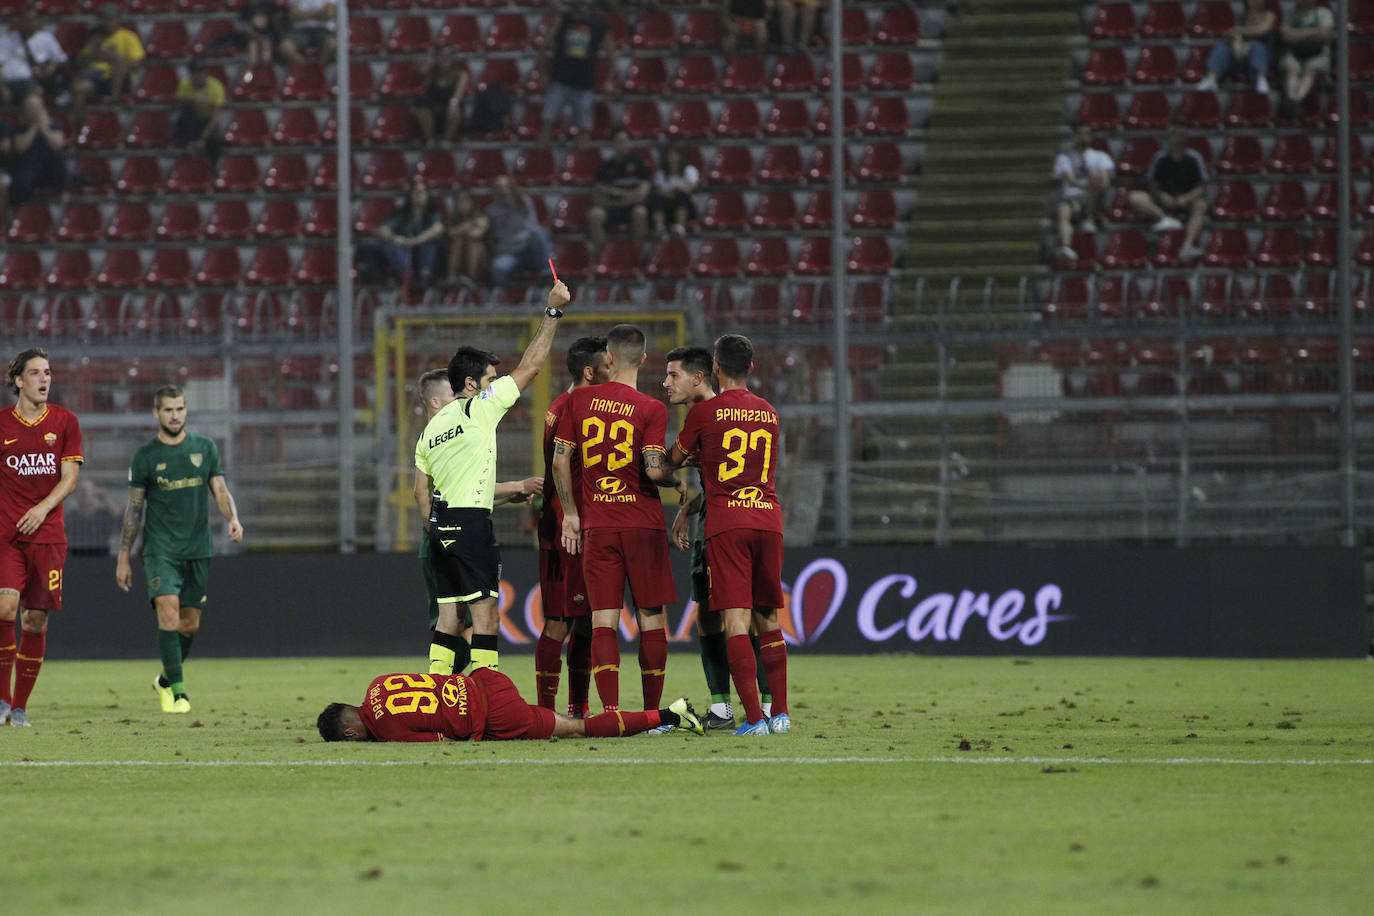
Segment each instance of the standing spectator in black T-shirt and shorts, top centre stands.
[[[592,128],[592,104],[596,93],[596,60],[606,52],[609,74],[616,73],[616,38],[610,26],[585,0],[569,0],[552,29],[552,54],[543,60],[544,108],[540,113],[539,141],[547,146],[554,125],[572,108],[570,124],[578,144],[587,143]],[[614,92],[614,77],[606,77],[606,91]]]

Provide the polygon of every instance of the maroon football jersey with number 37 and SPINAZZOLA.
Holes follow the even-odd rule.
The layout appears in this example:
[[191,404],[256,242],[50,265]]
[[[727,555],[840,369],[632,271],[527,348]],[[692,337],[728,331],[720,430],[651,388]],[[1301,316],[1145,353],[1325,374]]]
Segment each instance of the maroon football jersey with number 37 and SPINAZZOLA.
[[778,411],[743,389],[730,389],[687,412],[677,448],[695,455],[706,488],[706,537],[736,527],[782,531],[774,479]]

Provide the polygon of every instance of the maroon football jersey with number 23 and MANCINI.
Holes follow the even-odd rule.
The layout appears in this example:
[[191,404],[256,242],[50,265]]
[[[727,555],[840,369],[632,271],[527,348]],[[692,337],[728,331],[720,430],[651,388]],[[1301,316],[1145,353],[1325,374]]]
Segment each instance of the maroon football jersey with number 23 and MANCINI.
[[558,419],[556,441],[583,459],[577,509],[583,531],[651,527],[664,530],[658,485],[644,474],[643,452],[664,450],[668,408],[621,382],[573,389]]

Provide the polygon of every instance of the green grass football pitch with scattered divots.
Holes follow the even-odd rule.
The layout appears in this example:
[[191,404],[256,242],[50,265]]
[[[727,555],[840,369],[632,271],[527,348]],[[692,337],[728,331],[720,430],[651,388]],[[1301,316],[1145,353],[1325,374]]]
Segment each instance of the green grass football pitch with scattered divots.
[[[632,652],[622,684],[638,695]],[[793,656],[793,733],[324,744],[418,659],[49,662],[7,913],[1367,912],[1362,661]],[[533,695],[529,656],[506,670]],[[666,699],[705,707],[694,655]]]

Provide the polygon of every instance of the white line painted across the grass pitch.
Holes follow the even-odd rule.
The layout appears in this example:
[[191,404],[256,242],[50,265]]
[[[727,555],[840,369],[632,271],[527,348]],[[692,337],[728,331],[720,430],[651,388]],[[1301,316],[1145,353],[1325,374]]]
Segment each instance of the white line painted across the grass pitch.
[[550,759],[521,757],[511,759],[316,759],[316,761],[0,761],[4,768],[55,766],[618,766],[622,764],[794,764],[826,766],[834,764],[1033,764],[1051,766],[1374,766],[1374,759],[1230,759],[1224,757],[609,757],[596,759]]

